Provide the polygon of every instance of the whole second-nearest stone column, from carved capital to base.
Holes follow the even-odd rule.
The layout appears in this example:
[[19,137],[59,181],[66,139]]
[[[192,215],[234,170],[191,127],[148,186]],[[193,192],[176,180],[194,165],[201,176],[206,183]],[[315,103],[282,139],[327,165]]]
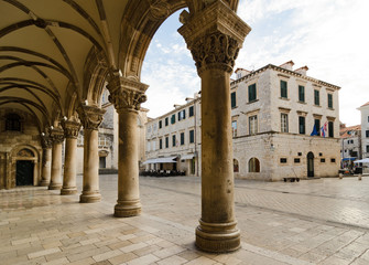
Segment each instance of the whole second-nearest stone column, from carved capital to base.
[[115,216],[128,218],[141,213],[139,191],[138,112],[146,100],[148,85],[115,76],[108,85],[109,100],[118,113],[118,200]]

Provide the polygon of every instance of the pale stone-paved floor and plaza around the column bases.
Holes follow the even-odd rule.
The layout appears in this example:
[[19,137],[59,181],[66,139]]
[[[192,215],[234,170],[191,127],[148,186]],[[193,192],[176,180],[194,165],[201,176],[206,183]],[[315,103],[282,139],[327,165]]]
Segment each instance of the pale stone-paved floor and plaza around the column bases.
[[[78,176],[80,191],[82,176]],[[369,177],[300,182],[236,180],[241,250],[194,246],[199,178],[140,178],[142,214],[112,216],[117,176],[102,201],[45,188],[0,191],[0,264],[369,264]]]

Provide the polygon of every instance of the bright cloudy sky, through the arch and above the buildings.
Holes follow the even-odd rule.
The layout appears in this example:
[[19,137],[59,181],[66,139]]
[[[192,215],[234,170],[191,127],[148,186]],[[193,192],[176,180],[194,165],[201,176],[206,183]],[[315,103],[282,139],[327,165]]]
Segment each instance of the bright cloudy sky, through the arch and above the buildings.
[[[180,11],[181,12],[181,11]],[[183,38],[180,12],[158,30],[143,63],[141,80],[150,85],[150,117],[184,104],[200,88],[194,61]],[[368,0],[240,0],[238,15],[252,31],[236,67],[257,70],[292,60],[307,65],[307,75],[341,87],[340,120],[360,124],[356,108],[369,102]]]

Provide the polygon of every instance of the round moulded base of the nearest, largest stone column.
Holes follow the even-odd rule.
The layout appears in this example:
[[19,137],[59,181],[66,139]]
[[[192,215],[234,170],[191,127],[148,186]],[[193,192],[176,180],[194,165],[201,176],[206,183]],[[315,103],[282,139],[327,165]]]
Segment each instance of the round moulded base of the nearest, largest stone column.
[[231,223],[205,223],[199,220],[196,229],[196,246],[205,252],[227,253],[241,247],[241,234]]

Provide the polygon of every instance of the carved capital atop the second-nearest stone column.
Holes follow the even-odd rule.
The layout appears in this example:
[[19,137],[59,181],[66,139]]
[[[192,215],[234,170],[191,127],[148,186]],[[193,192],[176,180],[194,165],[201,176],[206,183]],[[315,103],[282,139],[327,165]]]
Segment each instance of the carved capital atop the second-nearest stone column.
[[107,86],[110,92],[109,102],[115,105],[118,113],[124,109],[140,110],[141,104],[146,100],[144,92],[148,87],[143,83],[115,76]]

